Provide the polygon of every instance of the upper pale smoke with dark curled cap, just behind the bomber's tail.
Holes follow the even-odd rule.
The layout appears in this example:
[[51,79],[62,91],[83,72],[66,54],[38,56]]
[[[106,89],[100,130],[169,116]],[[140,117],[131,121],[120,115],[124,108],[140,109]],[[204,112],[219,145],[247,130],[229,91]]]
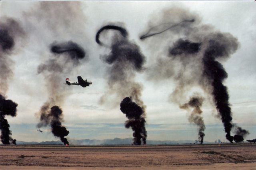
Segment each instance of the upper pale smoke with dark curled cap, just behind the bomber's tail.
[[[43,74],[46,80],[46,86],[49,98],[54,105],[61,104],[63,98],[63,90],[65,86],[60,84],[63,81],[63,74],[72,71],[72,68],[80,64],[80,60],[87,60],[84,49],[78,44],[68,41],[50,45],[50,51],[54,54],[37,68],[38,74]],[[62,55],[59,55],[62,54]]]

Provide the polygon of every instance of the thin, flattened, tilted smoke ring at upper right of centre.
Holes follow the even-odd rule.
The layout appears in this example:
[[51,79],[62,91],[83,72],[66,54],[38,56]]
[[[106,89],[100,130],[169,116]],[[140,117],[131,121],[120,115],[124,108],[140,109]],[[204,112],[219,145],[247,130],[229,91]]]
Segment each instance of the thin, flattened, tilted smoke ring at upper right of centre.
[[174,27],[180,26],[181,24],[184,24],[186,22],[194,22],[194,21],[195,20],[192,19],[192,20],[183,20],[183,21],[181,21],[177,24],[173,24],[171,22],[165,23],[165,24],[160,24],[158,26],[154,26],[154,27],[150,28],[146,34],[144,34],[140,37],[140,39],[143,40],[143,39],[148,38],[150,36],[161,34],[161,33],[165,32],[167,30],[170,30]]

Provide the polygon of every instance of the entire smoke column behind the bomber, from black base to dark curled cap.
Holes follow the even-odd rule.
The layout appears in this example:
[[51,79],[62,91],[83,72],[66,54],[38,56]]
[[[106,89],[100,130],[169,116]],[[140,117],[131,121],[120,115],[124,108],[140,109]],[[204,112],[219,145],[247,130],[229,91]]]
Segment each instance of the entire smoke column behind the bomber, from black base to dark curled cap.
[[[50,125],[52,134],[60,137],[61,141],[65,145],[68,145],[68,140],[64,138],[64,136],[67,136],[69,131],[62,126],[62,110],[59,106],[56,106],[56,104],[60,104],[62,100],[64,100],[62,95],[63,91],[59,84],[60,80],[63,78],[61,78],[62,73],[70,72],[72,67],[80,63],[79,60],[85,58],[86,53],[81,46],[72,41],[64,43],[54,42],[51,44],[50,50],[56,54],[56,58],[47,60],[45,63],[38,66],[38,74],[44,73],[46,83],[50,85],[47,86],[49,100],[41,107],[40,123],[38,123],[37,126],[40,128]],[[67,55],[58,55],[62,53]]]

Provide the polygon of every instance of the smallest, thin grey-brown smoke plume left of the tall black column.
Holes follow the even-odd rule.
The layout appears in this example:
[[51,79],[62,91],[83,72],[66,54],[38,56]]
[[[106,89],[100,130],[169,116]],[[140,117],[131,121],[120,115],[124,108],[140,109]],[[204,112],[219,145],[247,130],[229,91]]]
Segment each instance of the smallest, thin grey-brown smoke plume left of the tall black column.
[[200,97],[199,95],[195,94],[190,98],[188,103],[180,106],[180,108],[186,109],[186,110],[189,110],[190,107],[194,108],[188,118],[188,121],[198,126],[198,140],[200,141],[201,144],[204,142],[204,136],[205,136],[204,134],[205,125],[204,125],[204,120],[201,116],[202,110],[200,109],[203,101],[204,101],[203,97]]

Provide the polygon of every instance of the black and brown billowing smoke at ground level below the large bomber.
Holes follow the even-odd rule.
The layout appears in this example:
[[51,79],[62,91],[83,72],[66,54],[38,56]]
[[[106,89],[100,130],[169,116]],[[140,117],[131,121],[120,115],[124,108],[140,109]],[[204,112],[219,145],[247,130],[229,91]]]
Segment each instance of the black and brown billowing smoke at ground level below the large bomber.
[[58,106],[52,106],[50,108],[49,103],[45,103],[40,110],[40,123],[37,125],[38,128],[42,126],[50,125],[52,128],[52,134],[60,138],[64,145],[69,145],[67,138],[69,131],[62,126],[63,114],[62,110]]

